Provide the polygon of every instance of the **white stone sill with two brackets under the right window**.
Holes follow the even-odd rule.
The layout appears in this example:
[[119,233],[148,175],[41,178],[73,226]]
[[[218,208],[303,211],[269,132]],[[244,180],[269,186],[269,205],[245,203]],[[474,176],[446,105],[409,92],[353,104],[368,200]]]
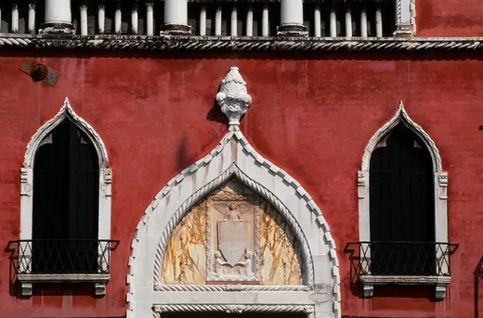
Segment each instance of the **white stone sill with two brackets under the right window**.
[[360,275],[364,297],[374,296],[374,285],[435,285],[435,299],[443,300],[450,276]]

